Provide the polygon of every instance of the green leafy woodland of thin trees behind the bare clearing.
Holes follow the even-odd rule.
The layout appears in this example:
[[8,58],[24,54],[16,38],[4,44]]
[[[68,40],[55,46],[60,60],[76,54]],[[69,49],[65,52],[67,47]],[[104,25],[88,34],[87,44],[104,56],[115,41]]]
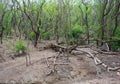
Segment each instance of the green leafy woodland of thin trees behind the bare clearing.
[[[0,0],[0,39],[63,39],[120,49],[120,0]],[[17,48],[17,47],[16,47]]]

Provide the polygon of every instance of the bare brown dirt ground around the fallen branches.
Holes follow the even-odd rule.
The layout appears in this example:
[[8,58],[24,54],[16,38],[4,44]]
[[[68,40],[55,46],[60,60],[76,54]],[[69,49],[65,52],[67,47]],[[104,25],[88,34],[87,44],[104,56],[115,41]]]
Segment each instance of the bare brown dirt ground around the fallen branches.
[[[70,55],[69,59],[60,56],[55,72],[48,75],[53,68],[53,56],[58,53],[51,49],[41,49],[45,43],[40,43],[38,49],[32,45],[30,48],[31,65],[26,66],[25,56],[12,59],[5,45],[0,46],[0,83],[35,83],[35,84],[120,84],[120,75],[117,72],[107,72],[102,69],[97,75],[97,67],[94,62],[81,55]],[[94,52],[89,48],[82,48]],[[50,67],[48,68],[46,58]],[[98,57],[109,66],[120,66],[120,55],[103,55]],[[63,65],[60,63],[64,63]]]

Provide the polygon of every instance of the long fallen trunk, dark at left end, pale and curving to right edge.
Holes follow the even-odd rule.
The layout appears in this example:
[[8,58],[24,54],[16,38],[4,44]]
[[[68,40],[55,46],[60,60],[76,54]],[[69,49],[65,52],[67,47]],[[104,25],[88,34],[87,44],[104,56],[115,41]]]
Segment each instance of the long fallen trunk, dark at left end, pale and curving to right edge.
[[98,54],[98,53],[116,54],[116,53],[114,53],[114,52],[103,52],[103,51],[100,52],[100,51],[97,51],[98,53],[96,53],[95,55],[93,55],[92,53],[87,52],[87,51],[85,51],[85,50],[81,50],[81,49],[78,50],[78,49],[77,49],[77,46],[70,46],[70,47],[66,48],[66,47],[61,46],[61,45],[52,44],[52,45],[51,45],[51,48],[52,48],[53,50],[55,50],[55,51],[57,50],[57,51],[60,51],[60,52],[69,51],[69,53],[71,53],[72,50],[81,51],[81,52],[83,52],[87,57],[91,58],[91,59],[94,61],[94,63],[95,63],[96,66],[101,65],[101,66],[103,66],[104,68],[106,68],[107,71],[117,71],[117,70],[120,69],[120,67],[110,67],[110,66],[108,66],[108,65],[105,64],[102,60],[100,60],[98,57],[95,56],[95,55]]

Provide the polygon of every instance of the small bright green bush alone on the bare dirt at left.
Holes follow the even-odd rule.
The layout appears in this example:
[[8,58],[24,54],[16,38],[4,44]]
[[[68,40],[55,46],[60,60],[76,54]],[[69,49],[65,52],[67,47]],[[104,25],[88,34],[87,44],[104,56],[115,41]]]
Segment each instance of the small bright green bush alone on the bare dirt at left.
[[25,46],[24,42],[20,40],[16,43],[15,50],[16,52],[25,52],[27,50],[27,47]]

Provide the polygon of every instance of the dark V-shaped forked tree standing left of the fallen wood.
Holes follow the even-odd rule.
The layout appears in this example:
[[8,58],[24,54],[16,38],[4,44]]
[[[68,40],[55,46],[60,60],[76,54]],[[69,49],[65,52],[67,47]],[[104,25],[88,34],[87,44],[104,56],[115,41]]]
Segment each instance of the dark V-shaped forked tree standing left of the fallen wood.
[[17,0],[16,2],[19,5],[21,12],[27,17],[30,22],[30,30],[35,34],[34,47],[37,47],[38,39],[40,36],[40,28],[42,27],[42,11],[45,0],[40,1],[40,4],[30,0],[23,0],[23,8]]

